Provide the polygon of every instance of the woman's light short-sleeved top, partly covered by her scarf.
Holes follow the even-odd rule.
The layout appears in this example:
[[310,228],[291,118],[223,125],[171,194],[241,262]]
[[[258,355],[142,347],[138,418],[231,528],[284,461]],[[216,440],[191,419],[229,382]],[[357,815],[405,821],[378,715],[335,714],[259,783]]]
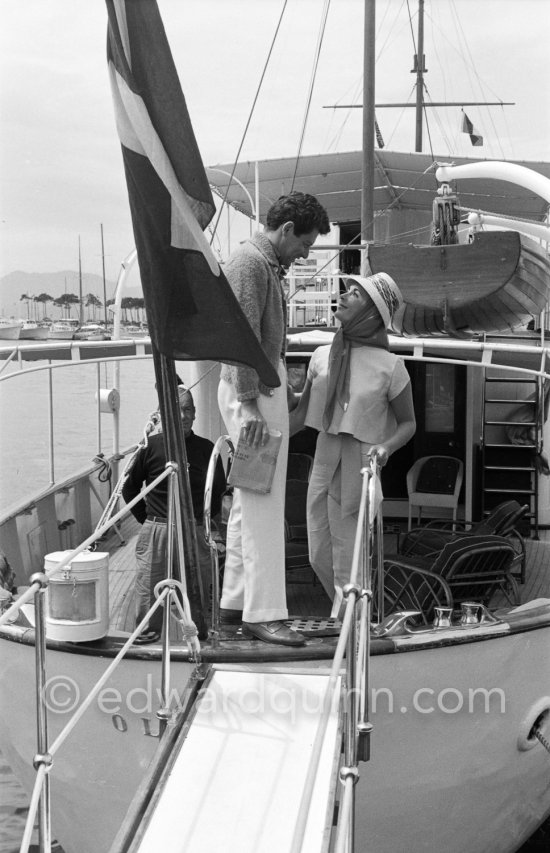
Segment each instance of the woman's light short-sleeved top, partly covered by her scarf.
[[[328,385],[330,346],[313,353],[308,369],[311,395],[306,426],[323,429],[323,411]],[[397,424],[390,403],[409,384],[403,359],[378,347],[353,347],[350,362],[350,399],[344,411],[336,403],[327,432],[349,433],[359,441],[379,444],[395,431]]]

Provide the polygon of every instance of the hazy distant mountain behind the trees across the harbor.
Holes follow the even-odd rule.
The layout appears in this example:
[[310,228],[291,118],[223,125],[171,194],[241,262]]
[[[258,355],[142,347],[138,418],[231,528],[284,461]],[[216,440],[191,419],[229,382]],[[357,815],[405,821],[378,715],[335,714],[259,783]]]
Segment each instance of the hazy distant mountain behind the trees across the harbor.
[[[107,299],[112,299],[116,282],[106,280]],[[21,301],[21,296],[39,296],[48,293],[54,299],[63,293],[76,293],[78,296],[78,272],[75,270],[60,270],[60,272],[23,272],[17,270],[0,278],[0,314],[6,316],[27,316],[27,303]],[[82,293],[93,293],[103,302],[103,278],[95,273],[82,273]],[[141,289],[128,287],[125,296],[141,296]],[[52,306],[46,311],[51,315]],[[55,311],[55,309],[54,309]],[[57,313],[56,313],[57,316]]]

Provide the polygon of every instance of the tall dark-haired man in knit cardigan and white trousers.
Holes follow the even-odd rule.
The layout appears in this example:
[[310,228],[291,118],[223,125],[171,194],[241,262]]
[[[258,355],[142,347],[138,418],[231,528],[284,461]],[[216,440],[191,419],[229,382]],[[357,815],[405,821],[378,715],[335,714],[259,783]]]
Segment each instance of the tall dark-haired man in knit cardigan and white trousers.
[[289,425],[281,278],[293,261],[307,258],[319,234],[329,230],[327,213],[314,196],[299,192],[281,196],[267,213],[265,230],[241,244],[224,267],[281,385],[268,388],[252,368],[224,364],[218,390],[220,411],[235,444],[241,430],[255,447],[267,443],[269,430],[280,430],[283,438],[269,494],[234,490],[221,618],[225,623],[242,620],[245,636],[287,646],[302,645],[304,638],[283,621],[288,617],[284,500]]

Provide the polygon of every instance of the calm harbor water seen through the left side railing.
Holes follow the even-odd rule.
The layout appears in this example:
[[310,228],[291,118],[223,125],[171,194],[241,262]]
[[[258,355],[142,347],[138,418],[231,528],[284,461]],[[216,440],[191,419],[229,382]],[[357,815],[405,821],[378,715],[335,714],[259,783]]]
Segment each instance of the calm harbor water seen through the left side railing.
[[[0,347],[9,345],[0,340]],[[39,364],[27,362],[25,366]],[[112,451],[112,415],[101,415],[99,436],[95,364],[56,364],[72,365],[51,371],[54,478],[59,482],[90,464],[98,451],[106,455]],[[18,372],[17,365],[9,365],[6,372]],[[113,372],[112,364],[101,366],[101,388],[112,388]],[[184,377],[184,370],[180,375]],[[148,415],[157,408],[151,359],[122,362],[120,387],[120,448],[124,449],[140,440]],[[49,429],[47,372],[0,382],[0,513],[50,484]]]

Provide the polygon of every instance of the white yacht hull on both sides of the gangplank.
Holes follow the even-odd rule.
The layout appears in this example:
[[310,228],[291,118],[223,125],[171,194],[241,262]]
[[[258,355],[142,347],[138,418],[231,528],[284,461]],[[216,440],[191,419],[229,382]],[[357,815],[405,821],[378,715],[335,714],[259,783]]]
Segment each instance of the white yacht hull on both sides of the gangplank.
[[[499,627],[482,642],[464,643],[455,629],[431,634],[423,648],[415,647],[422,637],[405,637],[372,657],[374,731],[356,787],[358,853],[514,853],[550,813],[549,757],[536,739],[527,742],[540,709],[550,707],[550,602],[546,610],[545,624],[534,630],[503,634]],[[2,660],[0,748],[30,793],[34,648],[4,641]],[[58,711],[69,710],[75,691],[82,698],[106,664],[49,653]],[[189,663],[174,663],[172,684],[183,689],[191,671]],[[109,849],[158,743],[159,679],[158,660],[125,661],[78,737],[55,757],[53,828],[65,853]],[[483,691],[493,691],[487,706]],[[68,716],[50,714],[50,743]]]

